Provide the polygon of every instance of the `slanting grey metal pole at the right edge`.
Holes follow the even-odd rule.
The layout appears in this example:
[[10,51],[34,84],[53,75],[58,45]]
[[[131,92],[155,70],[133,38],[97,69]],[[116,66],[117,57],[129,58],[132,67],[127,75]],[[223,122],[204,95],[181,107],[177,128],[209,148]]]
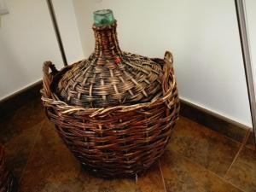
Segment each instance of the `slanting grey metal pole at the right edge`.
[[251,53],[249,46],[249,38],[247,33],[247,15],[244,0],[235,0],[236,3],[236,15],[239,27],[239,34],[241,40],[241,51],[244,64],[244,70],[247,79],[247,92],[250,102],[250,111],[253,122],[253,136],[254,136],[254,146],[256,148],[256,100],[255,100],[255,90],[253,84],[253,69],[251,61]]

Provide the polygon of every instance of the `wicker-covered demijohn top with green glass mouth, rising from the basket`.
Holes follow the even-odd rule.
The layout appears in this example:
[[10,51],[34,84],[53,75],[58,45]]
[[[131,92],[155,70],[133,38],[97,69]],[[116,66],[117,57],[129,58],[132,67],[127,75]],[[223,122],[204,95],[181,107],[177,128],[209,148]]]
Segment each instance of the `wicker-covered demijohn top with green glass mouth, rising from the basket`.
[[161,94],[162,67],[142,55],[121,51],[111,10],[94,12],[94,53],[68,67],[56,94],[70,105],[105,108],[150,102]]

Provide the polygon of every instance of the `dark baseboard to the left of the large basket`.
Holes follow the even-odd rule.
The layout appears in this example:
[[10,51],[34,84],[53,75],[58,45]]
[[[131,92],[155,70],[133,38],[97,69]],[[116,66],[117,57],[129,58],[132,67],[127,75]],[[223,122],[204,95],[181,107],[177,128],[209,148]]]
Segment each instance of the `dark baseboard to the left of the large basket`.
[[42,80],[26,87],[25,89],[15,92],[11,96],[5,97],[0,101],[0,119],[14,113],[17,108],[20,108],[32,99],[40,96],[40,90],[43,87]]

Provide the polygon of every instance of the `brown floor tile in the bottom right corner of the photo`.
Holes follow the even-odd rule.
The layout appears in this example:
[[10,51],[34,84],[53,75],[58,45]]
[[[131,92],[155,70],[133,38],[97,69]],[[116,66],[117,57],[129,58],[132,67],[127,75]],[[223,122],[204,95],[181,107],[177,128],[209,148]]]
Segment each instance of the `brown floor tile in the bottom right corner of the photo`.
[[236,161],[226,175],[230,183],[235,183],[248,192],[256,191],[256,151],[252,148],[242,148]]

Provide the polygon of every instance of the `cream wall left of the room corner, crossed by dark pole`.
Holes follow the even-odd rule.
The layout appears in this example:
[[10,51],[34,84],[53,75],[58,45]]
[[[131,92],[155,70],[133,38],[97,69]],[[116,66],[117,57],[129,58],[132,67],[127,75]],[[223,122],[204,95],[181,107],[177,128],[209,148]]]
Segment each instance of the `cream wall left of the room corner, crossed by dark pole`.
[[[9,15],[0,16],[0,100],[42,79],[44,61],[62,67],[61,54],[44,0],[5,1]],[[67,61],[84,57],[72,0],[55,0]],[[70,26],[71,28],[68,28]],[[71,39],[72,38],[72,39]]]

